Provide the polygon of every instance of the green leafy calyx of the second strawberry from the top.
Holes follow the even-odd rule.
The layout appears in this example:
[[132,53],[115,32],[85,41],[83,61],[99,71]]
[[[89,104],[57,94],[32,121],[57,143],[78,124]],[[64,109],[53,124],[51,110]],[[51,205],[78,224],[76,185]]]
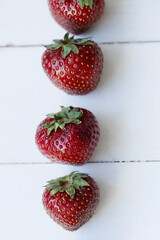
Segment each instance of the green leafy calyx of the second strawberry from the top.
[[62,57],[66,56],[72,51],[75,54],[79,53],[77,45],[92,45],[93,42],[89,41],[89,38],[78,38],[74,39],[74,36],[69,37],[69,33],[66,33],[64,39],[55,39],[53,44],[44,45],[47,49],[57,50],[62,48]]

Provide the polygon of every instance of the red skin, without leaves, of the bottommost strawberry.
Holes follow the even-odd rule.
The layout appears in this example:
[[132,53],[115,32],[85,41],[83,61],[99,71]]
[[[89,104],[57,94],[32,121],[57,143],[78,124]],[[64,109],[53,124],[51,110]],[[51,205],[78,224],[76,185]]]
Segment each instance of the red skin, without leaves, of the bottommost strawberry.
[[88,222],[99,203],[100,192],[96,182],[90,176],[85,180],[90,186],[76,190],[73,198],[66,192],[57,192],[53,196],[49,190],[43,193],[42,202],[47,214],[66,230],[77,230]]

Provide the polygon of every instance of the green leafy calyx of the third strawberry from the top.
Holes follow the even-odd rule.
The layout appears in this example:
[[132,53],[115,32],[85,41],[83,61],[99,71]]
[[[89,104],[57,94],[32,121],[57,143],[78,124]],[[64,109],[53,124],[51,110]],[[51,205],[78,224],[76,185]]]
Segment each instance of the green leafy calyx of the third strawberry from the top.
[[53,130],[56,132],[58,127],[64,130],[65,125],[68,123],[80,124],[81,121],[79,118],[81,118],[82,115],[82,110],[78,110],[72,106],[61,106],[60,112],[47,114],[47,118],[53,118],[54,120],[52,122],[46,122],[43,128],[47,128],[47,135],[49,136]]

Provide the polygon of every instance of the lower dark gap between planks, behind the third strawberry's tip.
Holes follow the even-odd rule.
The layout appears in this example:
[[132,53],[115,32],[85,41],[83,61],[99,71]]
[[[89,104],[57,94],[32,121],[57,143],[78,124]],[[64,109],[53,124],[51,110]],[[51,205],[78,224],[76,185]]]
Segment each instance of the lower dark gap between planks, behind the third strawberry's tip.
[[[86,164],[104,164],[104,163],[160,163],[160,160],[114,160],[114,161],[89,161]],[[41,165],[57,164],[53,162],[2,162],[0,165]]]

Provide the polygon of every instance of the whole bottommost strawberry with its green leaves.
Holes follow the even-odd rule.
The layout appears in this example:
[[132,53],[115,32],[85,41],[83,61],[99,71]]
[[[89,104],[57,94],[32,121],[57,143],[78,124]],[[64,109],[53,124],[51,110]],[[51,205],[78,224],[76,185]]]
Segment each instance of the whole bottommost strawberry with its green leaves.
[[48,181],[42,201],[49,216],[69,231],[77,230],[94,214],[99,188],[87,174],[72,172]]

